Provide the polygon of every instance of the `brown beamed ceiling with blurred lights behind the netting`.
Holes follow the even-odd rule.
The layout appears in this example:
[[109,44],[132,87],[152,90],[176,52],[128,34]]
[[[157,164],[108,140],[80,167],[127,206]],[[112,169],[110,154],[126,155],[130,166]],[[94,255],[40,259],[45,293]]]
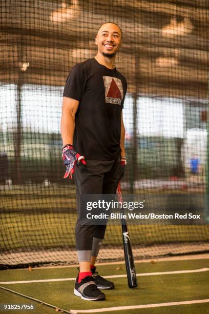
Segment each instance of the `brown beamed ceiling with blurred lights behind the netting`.
[[96,54],[99,25],[113,21],[123,31],[116,67],[130,93],[207,97],[207,0],[2,0],[0,9],[3,83],[64,86],[71,67]]

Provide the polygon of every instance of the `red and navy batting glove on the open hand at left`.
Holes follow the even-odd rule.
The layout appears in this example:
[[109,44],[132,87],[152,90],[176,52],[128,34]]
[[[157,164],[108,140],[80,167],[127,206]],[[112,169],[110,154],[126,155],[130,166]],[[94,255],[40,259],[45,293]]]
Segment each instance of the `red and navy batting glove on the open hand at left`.
[[86,165],[85,157],[78,154],[71,144],[67,144],[62,147],[62,158],[64,165],[66,165],[66,173],[63,177],[64,179],[68,178],[68,176],[69,179],[73,179],[76,162]]

